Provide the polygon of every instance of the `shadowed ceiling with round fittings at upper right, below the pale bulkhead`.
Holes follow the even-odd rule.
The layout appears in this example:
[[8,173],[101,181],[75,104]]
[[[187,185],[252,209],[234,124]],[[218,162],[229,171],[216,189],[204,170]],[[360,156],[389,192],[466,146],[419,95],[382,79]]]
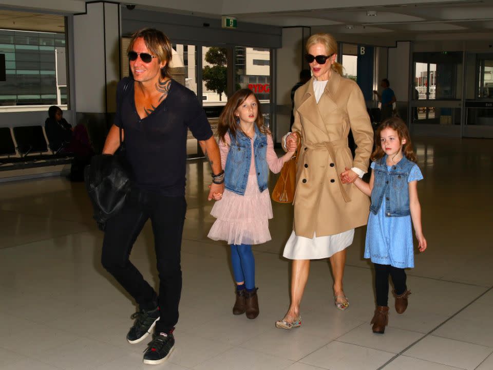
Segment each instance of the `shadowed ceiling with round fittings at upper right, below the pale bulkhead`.
[[[377,15],[369,16],[367,11]],[[490,0],[233,15],[244,22],[285,27],[323,26],[328,32],[353,34],[391,32],[409,36],[426,32],[490,32],[493,28],[493,2]]]

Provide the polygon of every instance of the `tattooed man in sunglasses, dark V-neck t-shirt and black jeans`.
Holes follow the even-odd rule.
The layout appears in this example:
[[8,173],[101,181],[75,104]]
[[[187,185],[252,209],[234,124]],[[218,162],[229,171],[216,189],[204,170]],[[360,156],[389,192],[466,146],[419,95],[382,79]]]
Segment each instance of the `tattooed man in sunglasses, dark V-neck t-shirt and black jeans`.
[[[117,88],[117,112],[103,153],[120,146],[123,129],[126,156],[135,178],[124,209],[106,223],[102,264],[139,305],[127,334],[131,344],[148,334],[143,361],[160,364],[175,344],[182,274],[180,249],[186,212],[185,160],[189,129],[211,162],[213,193],[222,194],[224,172],[211,126],[195,94],[169,77],[172,46],[156,29],[131,38],[128,60],[132,77]],[[151,220],[159,273],[159,294],[129,261],[130,251],[147,219]]]

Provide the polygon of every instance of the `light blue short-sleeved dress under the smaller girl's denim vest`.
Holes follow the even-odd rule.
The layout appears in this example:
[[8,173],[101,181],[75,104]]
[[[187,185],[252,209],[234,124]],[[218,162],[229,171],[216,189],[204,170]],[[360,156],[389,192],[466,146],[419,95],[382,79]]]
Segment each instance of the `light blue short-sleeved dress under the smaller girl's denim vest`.
[[[371,163],[375,168],[375,162]],[[387,171],[390,171],[387,166]],[[422,180],[420,168],[414,164],[408,182]],[[365,258],[393,267],[414,267],[411,216],[385,217],[385,197],[377,214],[370,212],[365,241]]]

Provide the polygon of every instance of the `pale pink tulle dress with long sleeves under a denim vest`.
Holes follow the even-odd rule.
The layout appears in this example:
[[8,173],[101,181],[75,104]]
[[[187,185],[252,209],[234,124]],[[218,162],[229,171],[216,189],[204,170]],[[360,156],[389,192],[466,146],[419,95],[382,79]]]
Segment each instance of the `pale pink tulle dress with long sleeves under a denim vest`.
[[[230,136],[225,136],[226,143],[219,140],[222,168],[225,168],[227,153],[230,149]],[[252,153],[253,153],[252,140]],[[277,158],[272,137],[267,135],[267,163],[272,172],[281,171],[285,160]],[[224,190],[222,199],[216,201],[211,215],[217,218],[207,235],[213,240],[224,240],[227,244],[261,244],[271,239],[269,219],[272,215],[269,189],[260,193],[252,156],[247,188],[244,195]]]

